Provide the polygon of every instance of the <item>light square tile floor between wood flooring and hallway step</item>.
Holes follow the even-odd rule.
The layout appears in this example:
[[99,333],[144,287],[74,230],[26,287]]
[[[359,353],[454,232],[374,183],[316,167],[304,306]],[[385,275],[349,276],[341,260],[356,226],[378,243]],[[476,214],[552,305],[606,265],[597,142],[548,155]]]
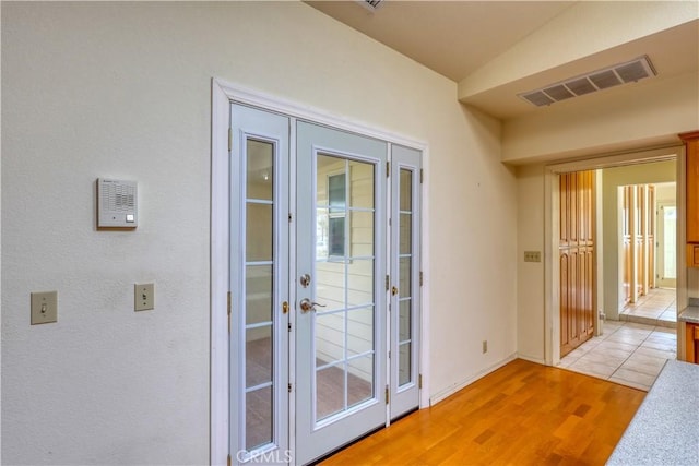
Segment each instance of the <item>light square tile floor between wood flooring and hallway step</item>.
[[560,368],[648,391],[667,359],[677,357],[675,328],[605,321],[603,335],[560,359]]

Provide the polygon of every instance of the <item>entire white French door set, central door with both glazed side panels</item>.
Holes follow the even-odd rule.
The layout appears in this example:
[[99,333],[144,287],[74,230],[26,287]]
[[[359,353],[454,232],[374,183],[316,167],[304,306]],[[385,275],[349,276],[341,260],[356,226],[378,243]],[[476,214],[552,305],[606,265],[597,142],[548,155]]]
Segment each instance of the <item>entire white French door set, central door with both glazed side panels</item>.
[[232,463],[307,464],[418,406],[420,153],[230,119]]

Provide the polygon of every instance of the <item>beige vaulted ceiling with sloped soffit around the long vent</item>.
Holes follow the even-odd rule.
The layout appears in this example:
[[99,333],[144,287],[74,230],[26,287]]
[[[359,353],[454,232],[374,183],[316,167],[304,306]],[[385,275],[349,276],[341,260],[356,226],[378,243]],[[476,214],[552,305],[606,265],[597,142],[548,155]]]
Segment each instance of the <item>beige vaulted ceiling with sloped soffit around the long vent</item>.
[[541,111],[521,94],[639,57],[655,76],[553,106],[603,104],[630,86],[643,98],[649,82],[699,70],[696,0],[307,3],[457,82],[460,101],[502,120]]

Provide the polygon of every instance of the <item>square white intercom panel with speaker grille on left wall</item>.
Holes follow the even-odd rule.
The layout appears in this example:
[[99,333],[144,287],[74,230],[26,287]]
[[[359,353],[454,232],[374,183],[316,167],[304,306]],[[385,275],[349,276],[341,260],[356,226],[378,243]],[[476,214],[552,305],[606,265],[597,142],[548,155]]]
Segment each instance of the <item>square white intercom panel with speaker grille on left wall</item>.
[[138,226],[135,181],[97,179],[97,228]]

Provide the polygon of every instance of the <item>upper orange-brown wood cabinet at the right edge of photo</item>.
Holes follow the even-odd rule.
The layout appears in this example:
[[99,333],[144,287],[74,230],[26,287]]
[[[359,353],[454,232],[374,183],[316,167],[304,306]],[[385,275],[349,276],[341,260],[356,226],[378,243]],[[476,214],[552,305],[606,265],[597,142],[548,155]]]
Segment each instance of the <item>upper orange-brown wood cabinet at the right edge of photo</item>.
[[687,153],[687,265],[699,267],[699,131],[679,134]]

